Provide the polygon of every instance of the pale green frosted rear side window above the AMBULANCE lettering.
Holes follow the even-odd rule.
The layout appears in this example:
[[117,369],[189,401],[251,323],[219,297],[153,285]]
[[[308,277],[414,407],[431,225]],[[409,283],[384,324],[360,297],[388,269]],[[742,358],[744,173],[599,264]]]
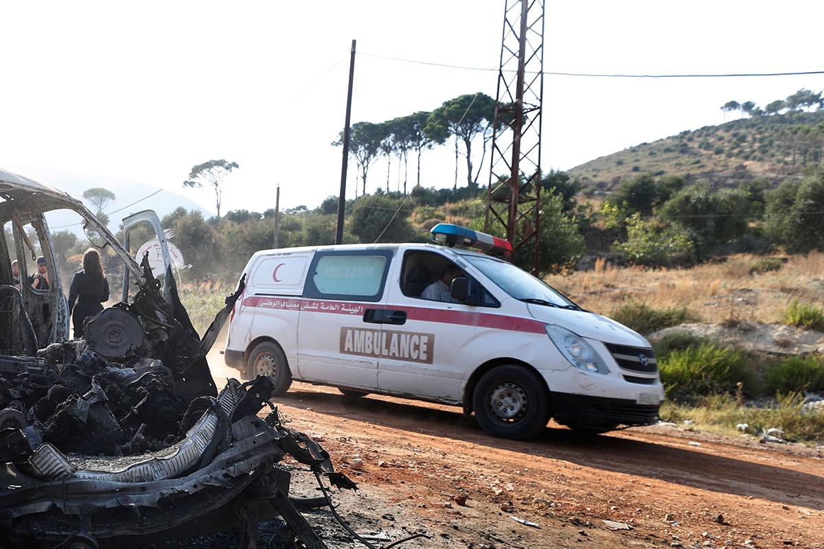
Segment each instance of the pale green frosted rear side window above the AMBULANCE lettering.
[[309,268],[303,296],[380,301],[391,258],[390,250],[319,252]]

